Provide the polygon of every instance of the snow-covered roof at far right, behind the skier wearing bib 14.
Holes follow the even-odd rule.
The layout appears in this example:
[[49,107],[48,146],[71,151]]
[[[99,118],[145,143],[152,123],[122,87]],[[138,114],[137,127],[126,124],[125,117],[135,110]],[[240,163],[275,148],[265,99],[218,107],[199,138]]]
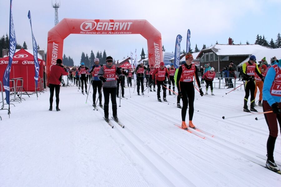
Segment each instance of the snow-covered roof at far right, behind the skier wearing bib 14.
[[[267,49],[267,50],[259,50],[256,53],[253,53],[256,56],[257,62],[261,61],[264,57],[268,64],[270,64],[270,59],[276,56],[277,59],[281,58],[281,48],[277,49]],[[238,66],[243,65],[245,62],[249,61],[249,57],[242,61]]]

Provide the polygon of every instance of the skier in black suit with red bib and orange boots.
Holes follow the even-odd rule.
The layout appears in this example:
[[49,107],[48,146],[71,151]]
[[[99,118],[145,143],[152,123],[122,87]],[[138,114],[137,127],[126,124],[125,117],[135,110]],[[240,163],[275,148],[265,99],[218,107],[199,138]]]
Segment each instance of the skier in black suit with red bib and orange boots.
[[190,52],[185,55],[185,64],[181,65],[177,74],[177,88],[179,90],[179,95],[182,98],[182,109],[181,109],[181,127],[187,129],[185,123],[185,116],[187,106],[189,104],[189,127],[194,128],[195,126],[192,123],[193,113],[194,113],[194,85],[193,85],[193,76],[198,84],[200,95],[203,96],[204,93],[200,86],[200,79],[198,77],[197,68],[192,64],[193,56]]

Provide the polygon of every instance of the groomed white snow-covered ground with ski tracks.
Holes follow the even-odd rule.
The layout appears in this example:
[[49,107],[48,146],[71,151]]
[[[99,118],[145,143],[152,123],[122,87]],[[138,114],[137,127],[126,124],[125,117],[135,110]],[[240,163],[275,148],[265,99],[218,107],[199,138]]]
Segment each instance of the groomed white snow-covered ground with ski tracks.
[[[194,134],[174,125],[181,124],[174,95],[160,103],[156,92],[133,91],[130,97],[125,88],[117,109],[123,129],[112,119],[110,128],[103,110],[93,110],[92,87],[87,103],[76,86],[61,87],[59,112],[48,111],[48,89],[38,100],[24,95],[10,119],[0,110],[0,186],[280,186],[281,176],[259,165],[269,135],[264,116],[222,119],[247,114],[243,89],[203,97],[195,91],[193,122],[201,132]],[[278,137],[279,165],[280,155]]]

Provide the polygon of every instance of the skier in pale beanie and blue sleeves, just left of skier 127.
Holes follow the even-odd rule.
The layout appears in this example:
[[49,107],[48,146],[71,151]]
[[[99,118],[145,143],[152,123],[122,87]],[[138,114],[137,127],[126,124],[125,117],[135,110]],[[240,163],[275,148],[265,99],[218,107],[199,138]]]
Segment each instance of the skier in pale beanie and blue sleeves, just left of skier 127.
[[98,58],[95,58],[94,63],[95,64],[89,70],[90,73],[92,74],[91,81],[92,81],[92,86],[93,86],[93,107],[96,106],[96,91],[98,91],[98,94],[99,94],[99,105],[102,107],[102,103],[101,103],[102,94],[100,94],[102,83],[101,83],[101,80],[98,78],[98,73],[101,69],[101,65],[99,64],[100,60]]

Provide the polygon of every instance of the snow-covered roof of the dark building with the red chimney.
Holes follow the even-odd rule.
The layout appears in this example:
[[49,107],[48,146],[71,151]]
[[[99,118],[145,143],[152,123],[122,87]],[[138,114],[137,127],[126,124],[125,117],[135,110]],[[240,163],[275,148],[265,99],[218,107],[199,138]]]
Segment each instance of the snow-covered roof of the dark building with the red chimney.
[[268,50],[272,49],[270,47],[260,46],[260,45],[222,45],[216,44],[214,46],[208,47],[201,50],[198,55],[206,50],[212,50],[216,55],[219,56],[230,56],[230,55],[252,55],[258,50]]

